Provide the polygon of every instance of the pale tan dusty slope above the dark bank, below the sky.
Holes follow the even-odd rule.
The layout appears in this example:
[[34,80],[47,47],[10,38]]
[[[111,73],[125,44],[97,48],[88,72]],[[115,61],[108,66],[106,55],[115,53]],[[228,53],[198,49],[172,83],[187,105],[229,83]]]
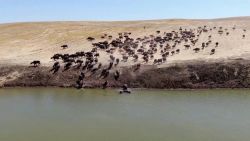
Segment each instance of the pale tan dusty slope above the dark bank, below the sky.
[[[210,34],[213,42],[219,42],[216,54],[211,56],[210,50],[204,50],[198,54],[190,51],[181,51],[179,55],[168,59],[168,64],[173,62],[194,60],[217,60],[217,59],[248,59],[250,55],[250,18],[230,18],[217,20],[159,20],[138,22],[49,22],[49,23],[16,23],[0,25],[0,64],[29,65],[33,60],[41,60],[43,65],[51,64],[50,57],[55,53],[75,53],[92,48],[90,42],[86,41],[89,36],[101,41],[100,36],[107,33],[117,36],[119,32],[132,32],[132,37],[144,37],[155,34],[161,30],[170,32],[183,28],[197,28],[207,25],[223,26],[228,28],[230,36],[220,36],[216,31],[203,34],[197,43],[201,46],[202,41],[207,40]],[[237,29],[231,31],[236,25]],[[143,27],[146,26],[146,29]],[[242,39],[242,35],[246,39]],[[62,50],[60,46],[68,44],[69,49]],[[181,50],[184,47],[179,46]],[[105,55],[101,60],[106,60]],[[127,65],[127,64],[125,64]],[[167,65],[167,64],[163,64]]]

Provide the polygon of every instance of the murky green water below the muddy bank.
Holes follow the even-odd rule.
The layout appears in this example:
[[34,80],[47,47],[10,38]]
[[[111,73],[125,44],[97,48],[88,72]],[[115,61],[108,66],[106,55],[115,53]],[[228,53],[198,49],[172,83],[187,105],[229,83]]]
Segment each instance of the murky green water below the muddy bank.
[[0,141],[247,141],[250,90],[0,89]]

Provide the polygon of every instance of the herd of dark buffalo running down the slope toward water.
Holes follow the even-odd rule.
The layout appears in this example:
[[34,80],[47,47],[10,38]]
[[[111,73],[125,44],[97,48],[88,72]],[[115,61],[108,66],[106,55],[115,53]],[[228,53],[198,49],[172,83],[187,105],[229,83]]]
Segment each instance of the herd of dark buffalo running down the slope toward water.
[[[232,30],[236,30],[236,27],[234,26]],[[129,63],[134,71],[139,71],[142,64],[162,65],[167,63],[167,59],[171,56],[181,54],[192,48],[194,53],[211,48],[209,55],[214,55],[216,48],[219,47],[219,42],[212,41],[216,40],[212,35],[209,35],[212,31],[218,32],[221,36],[231,35],[227,28],[200,26],[196,29],[180,27],[171,32],[158,30],[155,34],[138,38],[132,38],[131,32],[118,33],[117,37],[104,34],[98,42],[94,42],[98,37],[87,37],[86,40],[92,45],[89,51],[83,50],[73,54],[54,54],[51,57],[54,64],[50,71],[55,74],[60,69],[64,72],[75,68],[80,71],[76,80],[76,88],[82,88],[84,80],[93,75],[98,80],[103,80],[102,88],[107,88],[107,78],[109,76],[113,75],[115,81],[119,80],[121,76],[119,65],[121,63]],[[202,34],[208,34],[207,39],[198,42],[201,40]],[[245,39],[245,34],[242,37]],[[201,44],[200,47],[198,44]],[[69,46],[62,45],[61,48],[67,49]],[[109,59],[106,60],[106,63],[99,60],[101,55],[108,55]],[[31,64],[38,67],[41,62],[33,61]]]

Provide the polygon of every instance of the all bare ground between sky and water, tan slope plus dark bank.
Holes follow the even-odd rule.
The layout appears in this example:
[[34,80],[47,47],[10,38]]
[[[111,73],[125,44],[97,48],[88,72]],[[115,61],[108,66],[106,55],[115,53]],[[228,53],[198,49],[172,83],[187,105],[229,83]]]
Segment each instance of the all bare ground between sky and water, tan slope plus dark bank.
[[[221,37],[216,31],[209,33],[220,47],[211,56],[210,50],[201,53],[181,52],[160,66],[144,65],[139,72],[133,72],[134,63],[129,60],[118,68],[121,80],[108,80],[111,87],[120,87],[127,83],[136,88],[249,88],[250,87],[250,36],[243,29],[250,29],[250,18],[229,18],[216,20],[158,20],[138,22],[49,22],[15,23],[0,25],[0,86],[2,87],[74,87],[79,71],[52,74],[49,72],[55,53],[75,53],[92,48],[86,41],[89,36],[101,41],[100,36],[107,33],[117,36],[119,32],[132,32],[132,37],[143,37],[157,30],[172,31],[179,27],[196,28],[207,25],[223,26],[231,29],[229,37]],[[146,29],[143,27],[146,26]],[[197,46],[209,34],[201,37]],[[246,39],[242,39],[242,35]],[[69,49],[62,50],[60,45],[68,44]],[[181,47],[179,47],[181,48]],[[182,49],[182,48],[181,48]],[[100,61],[108,59],[101,53]],[[119,57],[119,54],[115,54]],[[29,67],[33,60],[40,60],[38,68]],[[104,82],[98,75],[89,76],[86,87],[100,87]]]

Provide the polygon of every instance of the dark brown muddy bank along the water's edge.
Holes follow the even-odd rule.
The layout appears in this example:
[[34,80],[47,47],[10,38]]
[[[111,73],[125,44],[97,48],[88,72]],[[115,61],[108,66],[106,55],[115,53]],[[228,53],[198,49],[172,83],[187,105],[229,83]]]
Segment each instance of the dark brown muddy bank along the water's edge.
[[[147,68],[147,69],[145,69]],[[166,68],[145,66],[134,72],[131,67],[120,68],[121,77],[115,81],[111,74],[107,80],[110,88],[120,88],[124,83],[131,88],[148,89],[215,89],[250,88],[250,63],[248,60],[213,63],[182,63]],[[49,67],[0,66],[2,88],[61,87],[74,88],[79,70],[59,71],[52,74]],[[100,88],[104,80],[89,74],[85,88]]]

